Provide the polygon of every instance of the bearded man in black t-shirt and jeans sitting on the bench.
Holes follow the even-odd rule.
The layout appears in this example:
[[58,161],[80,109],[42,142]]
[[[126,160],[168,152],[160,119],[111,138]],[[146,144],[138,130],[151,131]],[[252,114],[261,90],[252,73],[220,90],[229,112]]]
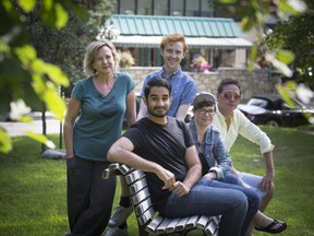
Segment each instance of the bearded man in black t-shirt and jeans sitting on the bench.
[[[134,123],[108,152],[118,162],[146,174],[154,208],[168,217],[221,215],[220,236],[244,235],[261,205],[261,198],[250,189],[247,197],[239,189],[212,187],[201,178],[202,166],[188,126],[168,117],[171,85],[154,78],[145,87],[148,115]],[[247,191],[247,189],[245,190]]]

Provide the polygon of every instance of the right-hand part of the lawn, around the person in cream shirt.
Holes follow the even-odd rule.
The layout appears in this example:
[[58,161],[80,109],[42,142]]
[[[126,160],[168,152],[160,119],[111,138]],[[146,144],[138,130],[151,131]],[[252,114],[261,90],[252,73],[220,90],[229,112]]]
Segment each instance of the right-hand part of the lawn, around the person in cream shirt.
[[[276,191],[266,209],[266,214],[288,223],[288,228],[282,233],[285,236],[314,235],[312,223],[314,206],[310,203],[314,193],[314,146],[312,144],[314,135],[289,128],[262,127],[262,129],[267,132],[276,146],[274,150]],[[258,148],[242,138],[239,141],[230,153],[235,160],[234,166],[240,164],[238,169],[265,174],[264,161]],[[256,155],[262,162],[254,164],[252,157],[255,158]],[[268,234],[255,232],[255,235]]]

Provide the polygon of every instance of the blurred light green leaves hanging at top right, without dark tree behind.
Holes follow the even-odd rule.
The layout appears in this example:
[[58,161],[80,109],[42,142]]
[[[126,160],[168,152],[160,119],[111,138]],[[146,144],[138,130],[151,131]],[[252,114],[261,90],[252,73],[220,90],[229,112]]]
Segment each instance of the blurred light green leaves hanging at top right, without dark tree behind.
[[[292,75],[292,71],[287,67],[294,60],[291,51],[281,50],[267,51],[265,45],[265,33],[267,32],[267,21],[275,19],[276,21],[285,21],[290,15],[303,14],[306,4],[301,1],[293,0],[217,0],[216,8],[221,9],[225,5],[229,15],[243,15],[241,19],[242,30],[244,32],[255,30],[258,40],[251,49],[250,69],[257,58],[257,52],[262,51],[262,56],[287,76]],[[227,8],[226,8],[227,5]]]

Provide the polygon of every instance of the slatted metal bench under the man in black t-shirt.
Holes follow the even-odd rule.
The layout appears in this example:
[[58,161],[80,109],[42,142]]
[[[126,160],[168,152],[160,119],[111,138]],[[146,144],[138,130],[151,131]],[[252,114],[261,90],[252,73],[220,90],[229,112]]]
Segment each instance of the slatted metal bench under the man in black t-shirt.
[[169,219],[160,215],[154,209],[145,174],[142,170],[113,163],[104,170],[102,178],[107,179],[112,175],[123,175],[129,185],[141,236],[172,233],[185,235],[192,229],[201,229],[204,235],[218,236],[220,216],[193,215]]

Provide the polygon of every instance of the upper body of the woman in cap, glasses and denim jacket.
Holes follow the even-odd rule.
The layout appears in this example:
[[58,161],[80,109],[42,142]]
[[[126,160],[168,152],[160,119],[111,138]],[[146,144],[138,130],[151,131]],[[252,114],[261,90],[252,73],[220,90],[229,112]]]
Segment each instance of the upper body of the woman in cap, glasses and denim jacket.
[[196,94],[192,111],[194,116],[189,129],[202,163],[202,176],[241,185],[231,174],[232,162],[219,131],[210,126],[216,111],[214,95],[207,92]]

